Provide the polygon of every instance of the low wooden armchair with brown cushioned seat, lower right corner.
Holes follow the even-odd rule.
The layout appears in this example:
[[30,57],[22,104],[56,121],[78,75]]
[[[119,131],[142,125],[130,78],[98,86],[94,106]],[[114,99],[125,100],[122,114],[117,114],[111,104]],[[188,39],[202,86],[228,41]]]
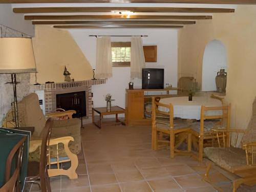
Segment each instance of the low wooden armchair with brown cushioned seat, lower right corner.
[[[225,147],[206,147],[205,156],[219,167],[236,174],[239,179],[233,181],[233,192],[244,183],[247,185],[256,184],[256,99],[253,102],[253,114],[247,130],[240,129],[216,129],[217,136],[230,135],[230,139],[223,141]],[[242,136],[241,146],[239,141]],[[228,145],[225,142],[228,141]],[[232,145],[233,146],[232,146]],[[205,180],[210,182],[209,170],[211,163],[208,163]]]

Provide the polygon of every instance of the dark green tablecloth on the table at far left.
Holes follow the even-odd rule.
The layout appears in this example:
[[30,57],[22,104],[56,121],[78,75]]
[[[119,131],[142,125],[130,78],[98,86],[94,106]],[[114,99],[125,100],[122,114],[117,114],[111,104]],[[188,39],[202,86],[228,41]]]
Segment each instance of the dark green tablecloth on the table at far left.
[[[14,129],[4,129],[0,128],[0,187],[5,184],[5,167],[7,157],[12,150],[12,148],[21,140],[23,137],[27,137],[24,144],[24,152],[22,159],[22,169],[20,171],[20,187],[23,189],[24,181],[27,177],[27,169],[28,169],[28,150],[29,150],[29,138],[30,132],[24,132],[20,130]],[[15,161],[14,161],[15,162]],[[13,163],[15,168],[15,163]]]

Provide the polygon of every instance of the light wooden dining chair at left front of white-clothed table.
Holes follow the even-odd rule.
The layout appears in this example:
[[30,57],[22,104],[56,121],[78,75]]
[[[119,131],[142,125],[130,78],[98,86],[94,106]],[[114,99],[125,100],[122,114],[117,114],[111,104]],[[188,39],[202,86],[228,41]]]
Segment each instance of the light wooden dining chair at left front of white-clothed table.
[[[159,107],[163,110],[159,110]],[[158,98],[152,98],[152,148],[154,150],[169,144],[170,158],[174,158],[178,154],[189,154],[191,151],[191,133],[189,131],[190,127],[187,123],[174,119],[174,109],[171,103],[163,104],[159,102]],[[187,141],[187,150],[178,150],[185,140]]]

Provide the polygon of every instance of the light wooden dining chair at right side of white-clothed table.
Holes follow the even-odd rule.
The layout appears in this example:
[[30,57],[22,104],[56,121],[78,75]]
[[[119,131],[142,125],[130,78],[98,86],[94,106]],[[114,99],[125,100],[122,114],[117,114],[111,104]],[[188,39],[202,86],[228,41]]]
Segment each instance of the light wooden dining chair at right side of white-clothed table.
[[[212,113],[212,115],[209,115]],[[202,162],[203,148],[208,146],[227,146],[229,144],[230,104],[227,106],[201,106],[200,122],[191,124],[192,144]],[[219,132],[214,131],[215,129]],[[223,143],[223,145],[222,145]]]

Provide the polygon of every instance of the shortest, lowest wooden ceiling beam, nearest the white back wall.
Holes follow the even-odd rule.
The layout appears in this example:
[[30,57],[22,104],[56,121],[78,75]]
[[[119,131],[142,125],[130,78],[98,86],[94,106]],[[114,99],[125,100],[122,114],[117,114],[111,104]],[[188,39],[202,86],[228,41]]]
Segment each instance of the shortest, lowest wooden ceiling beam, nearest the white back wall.
[[120,29],[120,28],[183,28],[183,26],[175,26],[175,25],[121,25],[121,26],[86,26],[86,25],[55,25],[54,28],[58,29]]

